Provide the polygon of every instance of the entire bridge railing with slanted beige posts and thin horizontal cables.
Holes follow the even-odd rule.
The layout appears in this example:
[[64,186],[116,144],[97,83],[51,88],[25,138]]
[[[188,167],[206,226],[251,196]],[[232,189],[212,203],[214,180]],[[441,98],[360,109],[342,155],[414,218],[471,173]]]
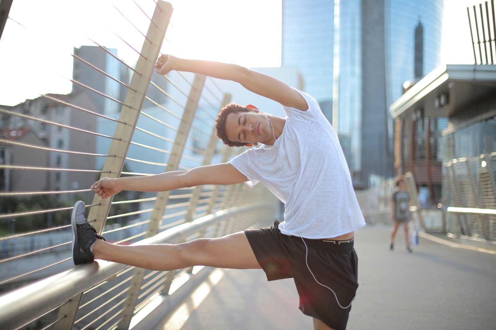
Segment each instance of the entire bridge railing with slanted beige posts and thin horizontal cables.
[[[124,74],[97,68],[94,55],[82,50],[73,55],[78,70],[98,73],[113,89],[73,77],[77,88],[71,94],[0,108],[2,329],[128,329],[137,311],[157,295],[172,294],[178,279],[196,272],[108,262],[72,268],[69,219],[78,199],[87,204],[88,221],[116,244],[224,236],[272,218],[277,202],[262,185],[123,191],[109,199],[89,189],[99,177],[187,170],[244,151],[221,146],[213,134],[216,113],[231,97],[215,80],[153,74],[172,6],[159,0],[152,12],[143,12],[149,27],[140,32],[143,46],[135,66],[94,42],[98,56],[110,58]],[[114,93],[119,89],[121,95]],[[104,100],[95,101],[98,97]]]

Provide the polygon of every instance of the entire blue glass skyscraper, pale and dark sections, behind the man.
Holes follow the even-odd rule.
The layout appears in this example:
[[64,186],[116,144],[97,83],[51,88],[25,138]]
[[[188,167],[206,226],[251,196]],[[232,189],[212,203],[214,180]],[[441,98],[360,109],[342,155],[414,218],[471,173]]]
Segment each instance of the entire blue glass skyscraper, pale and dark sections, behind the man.
[[356,188],[394,176],[389,105],[440,64],[442,14],[443,0],[283,0],[282,64],[302,71]]

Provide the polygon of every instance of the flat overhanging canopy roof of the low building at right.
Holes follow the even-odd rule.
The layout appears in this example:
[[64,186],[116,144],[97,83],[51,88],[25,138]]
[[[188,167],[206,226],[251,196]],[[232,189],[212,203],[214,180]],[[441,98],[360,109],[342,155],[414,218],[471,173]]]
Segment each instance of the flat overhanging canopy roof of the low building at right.
[[496,65],[440,65],[398,98],[393,118],[421,111],[424,117],[449,117],[468,104],[496,94]]

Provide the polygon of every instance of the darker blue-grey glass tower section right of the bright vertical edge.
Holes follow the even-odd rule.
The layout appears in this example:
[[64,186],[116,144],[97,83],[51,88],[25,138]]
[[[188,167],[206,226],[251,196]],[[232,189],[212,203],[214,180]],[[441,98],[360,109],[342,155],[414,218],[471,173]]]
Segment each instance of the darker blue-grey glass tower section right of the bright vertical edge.
[[334,4],[333,118],[354,186],[366,188],[394,176],[389,105],[440,64],[443,0]]

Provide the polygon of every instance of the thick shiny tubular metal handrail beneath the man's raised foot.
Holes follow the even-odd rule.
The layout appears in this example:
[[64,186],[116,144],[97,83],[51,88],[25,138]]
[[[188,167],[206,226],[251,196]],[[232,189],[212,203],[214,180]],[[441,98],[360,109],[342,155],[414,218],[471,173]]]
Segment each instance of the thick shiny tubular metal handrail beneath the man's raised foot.
[[[178,225],[131,245],[177,243],[188,236],[248,211],[273,209],[264,203],[235,206],[217,211],[192,222]],[[15,330],[33,322],[78,293],[123,271],[127,266],[97,260],[0,295],[0,324],[3,330]]]

